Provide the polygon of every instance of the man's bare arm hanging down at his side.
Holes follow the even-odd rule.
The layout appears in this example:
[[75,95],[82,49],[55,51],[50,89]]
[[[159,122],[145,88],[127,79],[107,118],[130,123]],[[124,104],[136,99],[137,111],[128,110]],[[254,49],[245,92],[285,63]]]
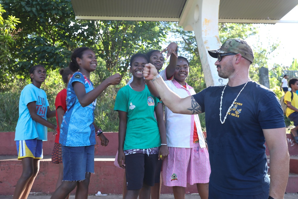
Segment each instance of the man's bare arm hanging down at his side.
[[270,192],[274,199],[282,199],[289,176],[289,153],[285,128],[263,129],[270,152]]

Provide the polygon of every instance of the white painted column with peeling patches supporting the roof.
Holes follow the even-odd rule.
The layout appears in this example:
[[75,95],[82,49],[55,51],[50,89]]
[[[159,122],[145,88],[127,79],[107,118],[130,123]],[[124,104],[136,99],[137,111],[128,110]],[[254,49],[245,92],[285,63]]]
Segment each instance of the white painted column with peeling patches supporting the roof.
[[214,65],[216,59],[208,53],[208,50],[221,47],[218,35],[219,2],[220,0],[188,0],[179,20],[179,25],[184,30],[193,30],[195,33],[207,87],[228,82],[228,79],[218,76]]

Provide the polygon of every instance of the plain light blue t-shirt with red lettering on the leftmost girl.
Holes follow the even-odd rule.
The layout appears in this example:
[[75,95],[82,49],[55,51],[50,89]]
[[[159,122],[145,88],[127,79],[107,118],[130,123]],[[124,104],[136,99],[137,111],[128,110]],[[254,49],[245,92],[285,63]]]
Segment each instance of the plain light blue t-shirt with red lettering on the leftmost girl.
[[36,113],[46,120],[46,111],[49,102],[46,98],[46,92],[37,88],[33,84],[24,87],[19,101],[19,118],[15,127],[16,140],[38,140],[47,141],[47,127],[32,120],[27,104],[35,101]]

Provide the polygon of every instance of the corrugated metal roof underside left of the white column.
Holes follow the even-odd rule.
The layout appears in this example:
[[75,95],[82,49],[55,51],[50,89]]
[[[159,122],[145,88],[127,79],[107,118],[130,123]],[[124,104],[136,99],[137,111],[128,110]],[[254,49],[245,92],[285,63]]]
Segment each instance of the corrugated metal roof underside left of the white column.
[[186,0],[72,0],[76,16],[179,18]]

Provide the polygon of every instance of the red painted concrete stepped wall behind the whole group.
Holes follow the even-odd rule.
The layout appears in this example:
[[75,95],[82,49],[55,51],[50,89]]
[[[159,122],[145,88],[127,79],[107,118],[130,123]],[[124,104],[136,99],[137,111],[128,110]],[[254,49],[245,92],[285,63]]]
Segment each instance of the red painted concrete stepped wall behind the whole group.
[[[4,155],[10,155],[10,158],[16,158],[16,146],[14,132],[0,132],[0,193],[1,195],[12,195],[15,184],[21,176],[22,164],[18,160],[10,160]],[[114,155],[118,147],[118,133],[106,132],[105,136],[109,139],[107,147],[98,146],[96,155],[107,155],[109,160],[97,159],[94,162],[95,174],[91,175],[89,185],[89,194],[95,194],[98,191],[102,193],[121,194],[123,187],[124,169],[114,166]],[[48,141],[44,142],[44,155],[51,155],[54,146],[54,136],[52,132],[48,133]],[[287,134],[288,147],[291,155],[290,172],[298,173],[298,145],[293,142],[290,134]],[[268,149],[267,149],[268,152]],[[269,154],[268,154],[269,155]],[[48,156],[49,157],[49,156]],[[49,157],[50,158],[50,157]],[[268,160],[270,166],[270,159]],[[40,162],[40,170],[32,186],[31,192],[42,192],[51,194],[55,190],[58,178],[58,165],[52,164],[50,159],[43,159]],[[298,192],[297,175],[290,175],[286,192]],[[73,191],[72,193],[75,193]],[[173,193],[171,187],[162,185],[161,193]],[[196,186],[188,185],[186,193],[197,193]]]

